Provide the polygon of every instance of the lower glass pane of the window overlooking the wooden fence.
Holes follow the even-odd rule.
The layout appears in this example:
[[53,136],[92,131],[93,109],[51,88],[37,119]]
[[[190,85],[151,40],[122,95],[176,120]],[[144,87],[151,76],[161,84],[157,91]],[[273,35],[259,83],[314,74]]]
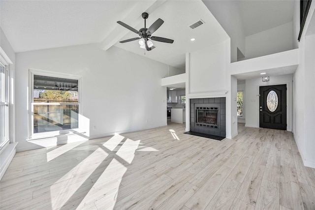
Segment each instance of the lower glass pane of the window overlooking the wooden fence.
[[33,105],[33,133],[78,128],[79,105]]

